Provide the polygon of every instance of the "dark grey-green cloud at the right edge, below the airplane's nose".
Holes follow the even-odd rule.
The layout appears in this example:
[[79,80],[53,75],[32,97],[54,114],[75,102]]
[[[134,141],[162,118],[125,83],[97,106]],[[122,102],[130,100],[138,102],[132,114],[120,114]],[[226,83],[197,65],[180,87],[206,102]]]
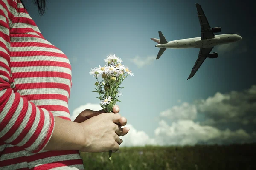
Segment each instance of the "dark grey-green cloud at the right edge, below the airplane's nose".
[[226,94],[217,92],[214,96],[195,102],[198,112],[204,113],[205,125],[216,123],[255,123],[256,85],[241,92]]

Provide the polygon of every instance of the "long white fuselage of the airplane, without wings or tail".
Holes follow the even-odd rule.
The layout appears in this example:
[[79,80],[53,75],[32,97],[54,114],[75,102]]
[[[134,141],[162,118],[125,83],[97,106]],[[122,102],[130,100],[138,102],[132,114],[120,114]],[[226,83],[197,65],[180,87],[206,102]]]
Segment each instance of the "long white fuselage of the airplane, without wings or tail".
[[242,37],[237,34],[221,34],[215,35],[214,38],[201,40],[201,37],[187,38],[181,40],[169,41],[166,44],[157,44],[159,48],[172,48],[172,49],[183,49],[183,48],[210,48],[220,44],[228,44],[241,40]]

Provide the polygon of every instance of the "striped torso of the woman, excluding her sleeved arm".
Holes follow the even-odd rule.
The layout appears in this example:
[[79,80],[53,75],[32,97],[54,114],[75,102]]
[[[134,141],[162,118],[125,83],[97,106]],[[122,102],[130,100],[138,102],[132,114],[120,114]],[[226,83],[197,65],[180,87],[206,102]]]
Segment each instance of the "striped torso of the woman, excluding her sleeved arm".
[[[14,81],[11,87],[36,106],[70,120],[70,62],[62,51],[44,39],[19,0],[17,11],[10,30],[10,68]],[[0,143],[0,151],[1,170],[84,169],[78,150],[31,153]]]

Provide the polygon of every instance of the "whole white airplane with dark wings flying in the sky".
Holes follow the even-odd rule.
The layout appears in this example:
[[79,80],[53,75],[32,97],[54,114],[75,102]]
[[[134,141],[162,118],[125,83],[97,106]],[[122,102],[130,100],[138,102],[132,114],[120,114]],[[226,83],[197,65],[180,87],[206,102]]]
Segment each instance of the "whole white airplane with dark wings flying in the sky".
[[187,80],[192,78],[195,75],[195,73],[198,71],[198,69],[203,64],[206,58],[212,59],[212,58],[218,57],[218,53],[214,52],[210,54],[214,46],[220,45],[220,44],[228,44],[228,43],[242,40],[242,37],[237,34],[214,35],[214,33],[221,32],[221,27],[211,28],[207,21],[207,18],[205,17],[205,14],[201,5],[199,5],[198,3],[196,3],[195,5],[197,8],[198,19],[201,26],[201,37],[187,38],[187,39],[174,40],[174,41],[168,42],[166,38],[163,36],[162,32],[158,31],[160,39],[151,38],[151,40],[153,40],[154,42],[157,42],[157,45],[155,45],[155,47],[160,48],[156,59],[159,59],[167,48],[172,48],[172,49],[200,48],[198,59],[196,60],[195,65],[193,66]]

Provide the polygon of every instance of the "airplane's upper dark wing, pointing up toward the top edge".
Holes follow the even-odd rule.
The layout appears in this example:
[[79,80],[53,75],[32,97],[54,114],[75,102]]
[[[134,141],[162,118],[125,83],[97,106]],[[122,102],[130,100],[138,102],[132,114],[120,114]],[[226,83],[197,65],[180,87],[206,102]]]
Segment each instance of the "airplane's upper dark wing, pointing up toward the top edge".
[[214,36],[213,32],[207,31],[211,27],[207,21],[207,18],[205,17],[205,14],[204,14],[204,11],[203,11],[201,5],[199,5],[198,3],[196,3],[195,5],[196,5],[196,9],[198,11],[198,19],[199,19],[200,26],[201,26],[201,40],[214,38],[215,36]]

